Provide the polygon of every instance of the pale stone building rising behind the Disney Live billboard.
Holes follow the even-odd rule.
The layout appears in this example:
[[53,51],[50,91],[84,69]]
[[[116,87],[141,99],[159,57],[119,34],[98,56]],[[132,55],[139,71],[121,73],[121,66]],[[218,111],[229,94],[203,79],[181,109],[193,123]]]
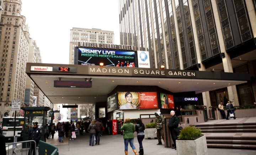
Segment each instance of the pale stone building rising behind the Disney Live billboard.
[[74,49],[77,42],[114,44],[114,32],[98,28],[73,27],[70,30],[69,64],[74,64]]

